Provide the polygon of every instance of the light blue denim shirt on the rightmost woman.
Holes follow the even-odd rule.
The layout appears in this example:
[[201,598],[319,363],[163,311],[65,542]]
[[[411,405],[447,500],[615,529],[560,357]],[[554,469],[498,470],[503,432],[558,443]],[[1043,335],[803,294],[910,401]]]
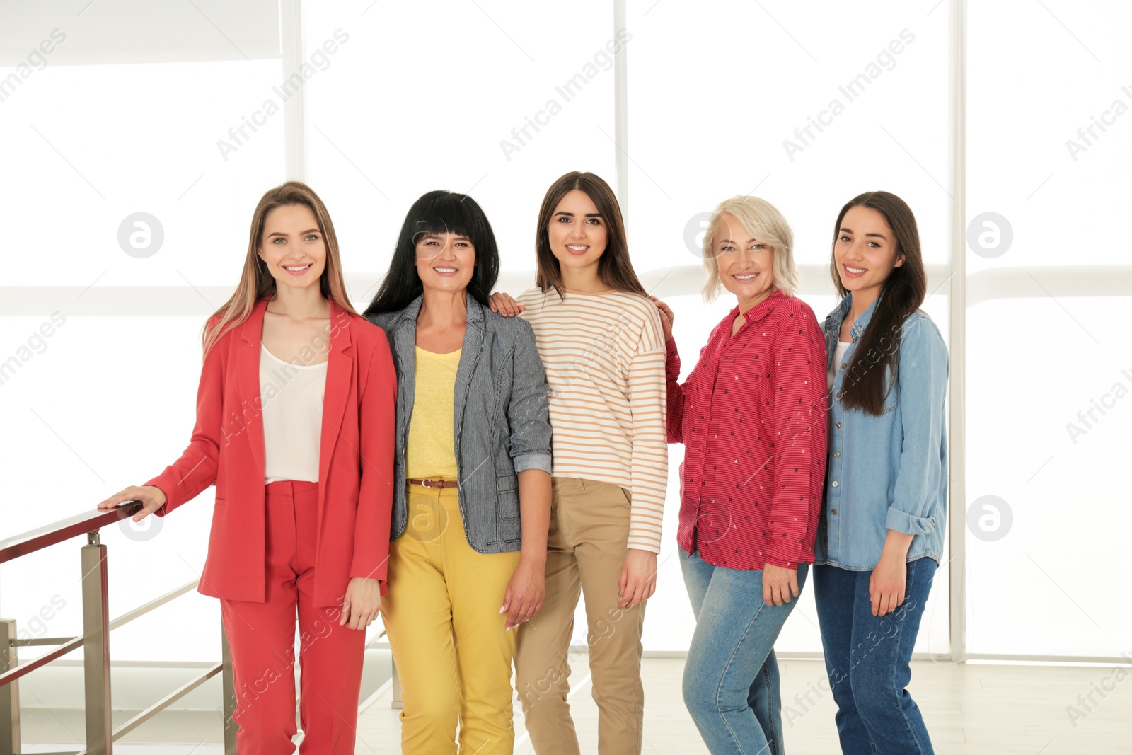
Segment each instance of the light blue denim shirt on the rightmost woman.
[[[927,315],[909,315],[901,326],[894,383],[889,370],[883,412],[846,410],[839,401],[846,380],[852,385],[875,363],[871,354],[860,360],[855,354],[875,301],[854,324],[854,345],[842,363],[833,363],[841,321],[851,303],[848,294],[825,318],[830,368],[840,369],[830,392],[830,463],[815,563],[872,570],[889,530],[912,535],[907,560],[929,556],[940,563],[947,501],[947,349]],[[886,343],[895,341],[882,340],[881,346]]]

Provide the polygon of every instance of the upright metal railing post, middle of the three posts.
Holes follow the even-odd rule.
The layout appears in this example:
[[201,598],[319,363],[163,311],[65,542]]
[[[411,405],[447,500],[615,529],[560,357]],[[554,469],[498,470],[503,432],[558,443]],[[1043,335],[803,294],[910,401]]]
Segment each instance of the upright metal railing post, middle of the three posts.
[[86,752],[111,755],[110,606],[106,600],[106,547],[97,532],[83,546],[83,681],[86,687]]

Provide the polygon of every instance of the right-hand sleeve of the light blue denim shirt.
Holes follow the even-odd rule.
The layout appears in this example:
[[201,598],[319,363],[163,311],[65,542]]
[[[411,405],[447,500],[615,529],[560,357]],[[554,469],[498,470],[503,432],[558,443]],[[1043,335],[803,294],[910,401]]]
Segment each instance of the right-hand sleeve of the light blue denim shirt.
[[893,503],[885,517],[890,530],[927,534],[944,525],[947,370],[947,349],[938,329],[932,320],[917,318],[900,338],[898,401],[903,444]]

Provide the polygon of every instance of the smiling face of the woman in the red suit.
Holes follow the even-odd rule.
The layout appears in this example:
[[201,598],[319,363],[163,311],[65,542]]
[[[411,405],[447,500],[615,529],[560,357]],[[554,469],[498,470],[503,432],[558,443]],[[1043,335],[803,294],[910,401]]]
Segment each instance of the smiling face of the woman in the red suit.
[[317,286],[326,268],[326,241],[310,207],[283,205],[267,213],[258,254],[276,286]]

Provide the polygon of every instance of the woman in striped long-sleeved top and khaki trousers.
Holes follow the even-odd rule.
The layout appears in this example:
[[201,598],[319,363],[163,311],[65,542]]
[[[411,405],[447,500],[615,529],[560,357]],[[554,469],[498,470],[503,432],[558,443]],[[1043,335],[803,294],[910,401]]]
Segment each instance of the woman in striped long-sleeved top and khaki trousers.
[[668,481],[664,342],[629,261],[612,190],[563,175],[539,211],[537,288],[492,309],[523,312],[549,383],[554,432],[547,597],[515,652],[518,696],[539,755],[578,753],[566,654],[585,597],[598,752],[641,752],[644,601],[657,585]]

